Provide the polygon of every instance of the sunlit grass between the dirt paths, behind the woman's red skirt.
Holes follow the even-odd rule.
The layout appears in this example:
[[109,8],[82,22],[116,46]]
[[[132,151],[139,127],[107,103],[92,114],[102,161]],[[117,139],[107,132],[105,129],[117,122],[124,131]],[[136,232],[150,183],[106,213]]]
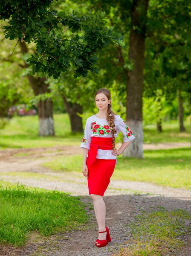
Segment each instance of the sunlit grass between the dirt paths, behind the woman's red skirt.
[[[189,148],[147,150],[145,159],[118,157],[112,179],[151,182],[174,188],[191,189],[191,150]],[[82,156],[54,157],[43,166],[59,172],[82,170]]]

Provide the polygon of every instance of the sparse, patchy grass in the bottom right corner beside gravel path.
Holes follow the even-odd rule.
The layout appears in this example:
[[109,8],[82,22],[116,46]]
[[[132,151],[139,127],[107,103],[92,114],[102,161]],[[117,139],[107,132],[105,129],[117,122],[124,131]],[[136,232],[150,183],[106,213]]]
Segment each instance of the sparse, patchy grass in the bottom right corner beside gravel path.
[[132,238],[119,256],[161,256],[179,249],[183,244],[180,236],[189,232],[191,215],[182,209],[167,211],[163,207],[150,212],[142,211],[128,224]]

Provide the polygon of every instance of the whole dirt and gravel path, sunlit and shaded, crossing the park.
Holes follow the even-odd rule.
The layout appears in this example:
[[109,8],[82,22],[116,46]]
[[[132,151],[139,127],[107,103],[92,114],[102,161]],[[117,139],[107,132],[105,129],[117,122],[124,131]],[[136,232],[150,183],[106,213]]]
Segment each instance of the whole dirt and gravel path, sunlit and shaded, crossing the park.
[[[87,182],[84,177],[77,173],[71,175],[71,173],[52,172],[40,165],[52,156],[70,155],[76,150],[77,147],[64,146],[0,151],[1,180],[19,181],[27,186],[71,192],[72,195],[81,195],[82,201],[92,205],[92,200],[87,195]],[[9,172],[14,172],[15,175],[9,175]],[[23,175],[17,175],[17,172],[23,172]],[[134,191],[139,191],[141,194],[135,195]],[[112,237],[112,242],[107,247],[96,248],[94,245],[97,239],[97,225],[93,209],[88,207],[88,213],[92,217],[87,230],[59,233],[49,238],[41,237],[41,239],[37,239],[38,233],[32,233],[25,247],[18,249],[11,246],[2,247],[0,255],[110,256],[117,253],[120,247],[130,244],[130,230],[126,224],[133,221],[134,216],[142,209],[147,211],[163,206],[169,210],[180,208],[191,212],[191,191],[156,186],[151,183],[112,180],[105,193],[104,201],[107,208],[106,224],[110,228]],[[182,247],[181,252],[174,251],[169,255],[191,255],[190,237],[185,236],[182,239],[185,241],[185,246]]]

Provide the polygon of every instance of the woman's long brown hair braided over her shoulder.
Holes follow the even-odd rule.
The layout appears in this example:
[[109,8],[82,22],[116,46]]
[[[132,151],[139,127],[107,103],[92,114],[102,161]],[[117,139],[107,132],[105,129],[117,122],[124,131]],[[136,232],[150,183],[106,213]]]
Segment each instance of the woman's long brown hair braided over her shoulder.
[[[99,93],[104,93],[105,96],[107,97],[108,100],[111,100],[111,93],[109,90],[105,89],[105,88],[101,88],[99,90],[96,91],[96,95],[98,95]],[[95,97],[96,97],[95,95]],[[112,149],[115,148],[115,142],[116,142],[116,138],[114,136],[114,134],[116,134],[116,127],[115,127],[115,123],[114,123],[114,119],[115,119],[115,113],[111,110],[111,102],[110,104],[108,104],[107,106],[107,122],[109,123],[110,129],[111,129],[111,133],[113,136],[113,140],[112,140],[112,144],[113,147]]]

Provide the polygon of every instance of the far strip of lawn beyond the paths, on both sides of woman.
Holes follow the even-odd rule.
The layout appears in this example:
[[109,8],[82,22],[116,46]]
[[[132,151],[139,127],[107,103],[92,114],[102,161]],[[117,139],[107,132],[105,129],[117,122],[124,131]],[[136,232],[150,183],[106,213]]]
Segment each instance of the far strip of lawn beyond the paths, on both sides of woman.
[[[54,145],[79,145],[82,133],[72,134],[69,116],[55,114],[55,137],[38,137],[38,116],[16,116],[4,130],[0,130],[0,148],[51,147]],[[83,120],[85,121],[85,120]],[[189,142],[190,124],[185,122],[186,132],[179,133],[178,121],[164,122],[163,132],[159,134],[154,125],[144,128],[145,143]],[[122,141],[122,134],[116,142]]]

